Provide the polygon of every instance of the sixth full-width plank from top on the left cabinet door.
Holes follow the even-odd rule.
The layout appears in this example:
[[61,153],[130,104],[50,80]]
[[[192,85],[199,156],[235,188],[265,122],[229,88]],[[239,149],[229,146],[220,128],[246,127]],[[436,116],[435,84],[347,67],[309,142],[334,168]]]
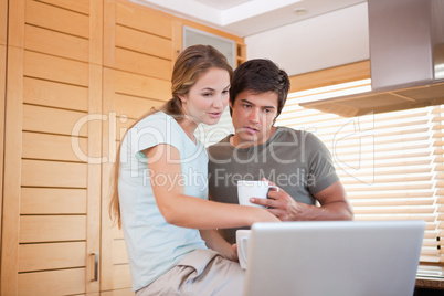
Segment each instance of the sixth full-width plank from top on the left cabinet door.
[[23,158],[86,161],[87,139],[39,133],[23,133]]

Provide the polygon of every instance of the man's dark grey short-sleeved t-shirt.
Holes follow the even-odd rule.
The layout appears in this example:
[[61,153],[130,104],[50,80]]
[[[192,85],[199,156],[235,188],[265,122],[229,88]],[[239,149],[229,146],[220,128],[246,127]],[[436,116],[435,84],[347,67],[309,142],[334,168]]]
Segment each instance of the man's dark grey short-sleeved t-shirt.
[[[277,127],[268,141],[249,148],[230,145],[229,135],[208,148],[210,199],[237,203],[237,180],[266,178],[298,202],[315,204],[313,194],[339,178],[331,155],[315,135]],[[220,230],[224,239],[235,242],[236,229]]]

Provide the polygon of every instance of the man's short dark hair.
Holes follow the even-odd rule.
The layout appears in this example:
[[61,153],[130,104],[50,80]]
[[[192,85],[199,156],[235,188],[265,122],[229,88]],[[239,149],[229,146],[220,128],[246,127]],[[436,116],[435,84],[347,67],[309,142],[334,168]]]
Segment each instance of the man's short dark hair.
[[[289,89],[288,75],[267,59],[254,59],[242,63],[235,71],[230,87],[230,102],[234,106],[236,96],[249,91],[254,94],[277,94],[277,116],[284,108]],[[230,114],[232,109],[230,108]]]

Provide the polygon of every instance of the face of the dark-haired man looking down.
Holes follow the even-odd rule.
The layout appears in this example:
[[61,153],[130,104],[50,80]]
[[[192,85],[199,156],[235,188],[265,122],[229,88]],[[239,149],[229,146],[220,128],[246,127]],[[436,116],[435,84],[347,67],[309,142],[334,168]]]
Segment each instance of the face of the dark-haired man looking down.
[[269,139],[275,127],[273,120],[277,115],[277,94],[273,92],[255,94],[243,91],[231,105],[235,130],[233,146],[250,147],[261,145]]

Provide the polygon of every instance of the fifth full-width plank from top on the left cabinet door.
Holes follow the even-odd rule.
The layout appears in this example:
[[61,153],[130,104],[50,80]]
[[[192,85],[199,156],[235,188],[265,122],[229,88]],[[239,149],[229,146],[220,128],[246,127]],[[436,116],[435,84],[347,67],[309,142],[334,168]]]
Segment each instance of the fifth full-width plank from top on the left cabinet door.
[[85,137],[86,123],[84,113],[23,105],[23,130]]

